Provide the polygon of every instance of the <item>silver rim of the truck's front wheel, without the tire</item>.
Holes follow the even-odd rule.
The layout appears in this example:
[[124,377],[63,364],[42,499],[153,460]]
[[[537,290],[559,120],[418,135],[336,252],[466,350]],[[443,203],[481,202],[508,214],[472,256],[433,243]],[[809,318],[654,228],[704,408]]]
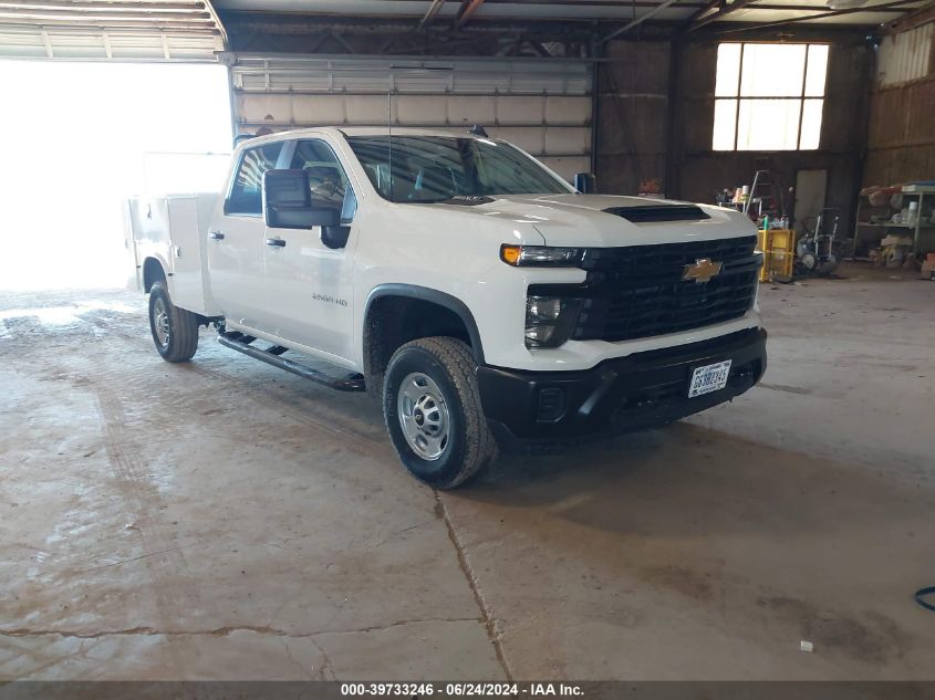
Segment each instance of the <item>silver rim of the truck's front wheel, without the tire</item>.
[[396,407],[403,436],[413,451],[429,461],[441,457],[448,447],[450,419],[438,385],[422,373],[406,376],[399,385]]

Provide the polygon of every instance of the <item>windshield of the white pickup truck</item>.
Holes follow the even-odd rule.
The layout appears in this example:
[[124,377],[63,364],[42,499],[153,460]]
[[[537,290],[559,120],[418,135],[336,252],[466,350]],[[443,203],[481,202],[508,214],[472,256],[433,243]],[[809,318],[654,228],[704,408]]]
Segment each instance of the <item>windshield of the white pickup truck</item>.
[[[439,202],[487,195],[555,195],[572,190],[502,142],[445,136],[347,138],[381,197]],[[392,174],[391,174],[392,159]]]

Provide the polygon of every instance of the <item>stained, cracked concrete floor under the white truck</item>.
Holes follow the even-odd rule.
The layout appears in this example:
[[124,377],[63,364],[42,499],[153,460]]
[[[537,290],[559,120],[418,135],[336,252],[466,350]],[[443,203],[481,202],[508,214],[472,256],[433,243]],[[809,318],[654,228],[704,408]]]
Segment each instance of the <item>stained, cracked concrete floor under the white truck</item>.
[[935,284],[845,274],[734,404],[444,494],[135,293],[0,295],[0,678],[935,679]]

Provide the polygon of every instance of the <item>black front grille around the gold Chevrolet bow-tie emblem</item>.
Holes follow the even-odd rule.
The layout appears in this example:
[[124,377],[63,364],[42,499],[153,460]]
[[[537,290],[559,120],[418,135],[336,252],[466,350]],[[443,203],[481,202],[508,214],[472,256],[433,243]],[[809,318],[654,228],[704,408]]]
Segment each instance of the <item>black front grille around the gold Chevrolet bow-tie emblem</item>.
[[[690,331],[739,318],[754,305],[761,261],[756,243],[756,237],[747,237],[589,249],[584,284],[563,292],[555,285],[533,285],[529,293],[583,297],[572,334],[578,341]],[[683,281],[685,265],[706,258],[723,263],[720,274],[702,283]]]

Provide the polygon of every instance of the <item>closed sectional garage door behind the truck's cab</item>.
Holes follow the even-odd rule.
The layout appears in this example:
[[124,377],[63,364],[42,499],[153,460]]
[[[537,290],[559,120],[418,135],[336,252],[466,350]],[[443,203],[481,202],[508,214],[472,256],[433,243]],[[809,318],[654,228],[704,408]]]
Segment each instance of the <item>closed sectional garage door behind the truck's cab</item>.
[[[592,80],[581,61],[450,61],[237,54],[239,133],[304,126],[472,124],[512,142],[564,177],[590,170]],[[393,113],[389,114],[389,93]]]

